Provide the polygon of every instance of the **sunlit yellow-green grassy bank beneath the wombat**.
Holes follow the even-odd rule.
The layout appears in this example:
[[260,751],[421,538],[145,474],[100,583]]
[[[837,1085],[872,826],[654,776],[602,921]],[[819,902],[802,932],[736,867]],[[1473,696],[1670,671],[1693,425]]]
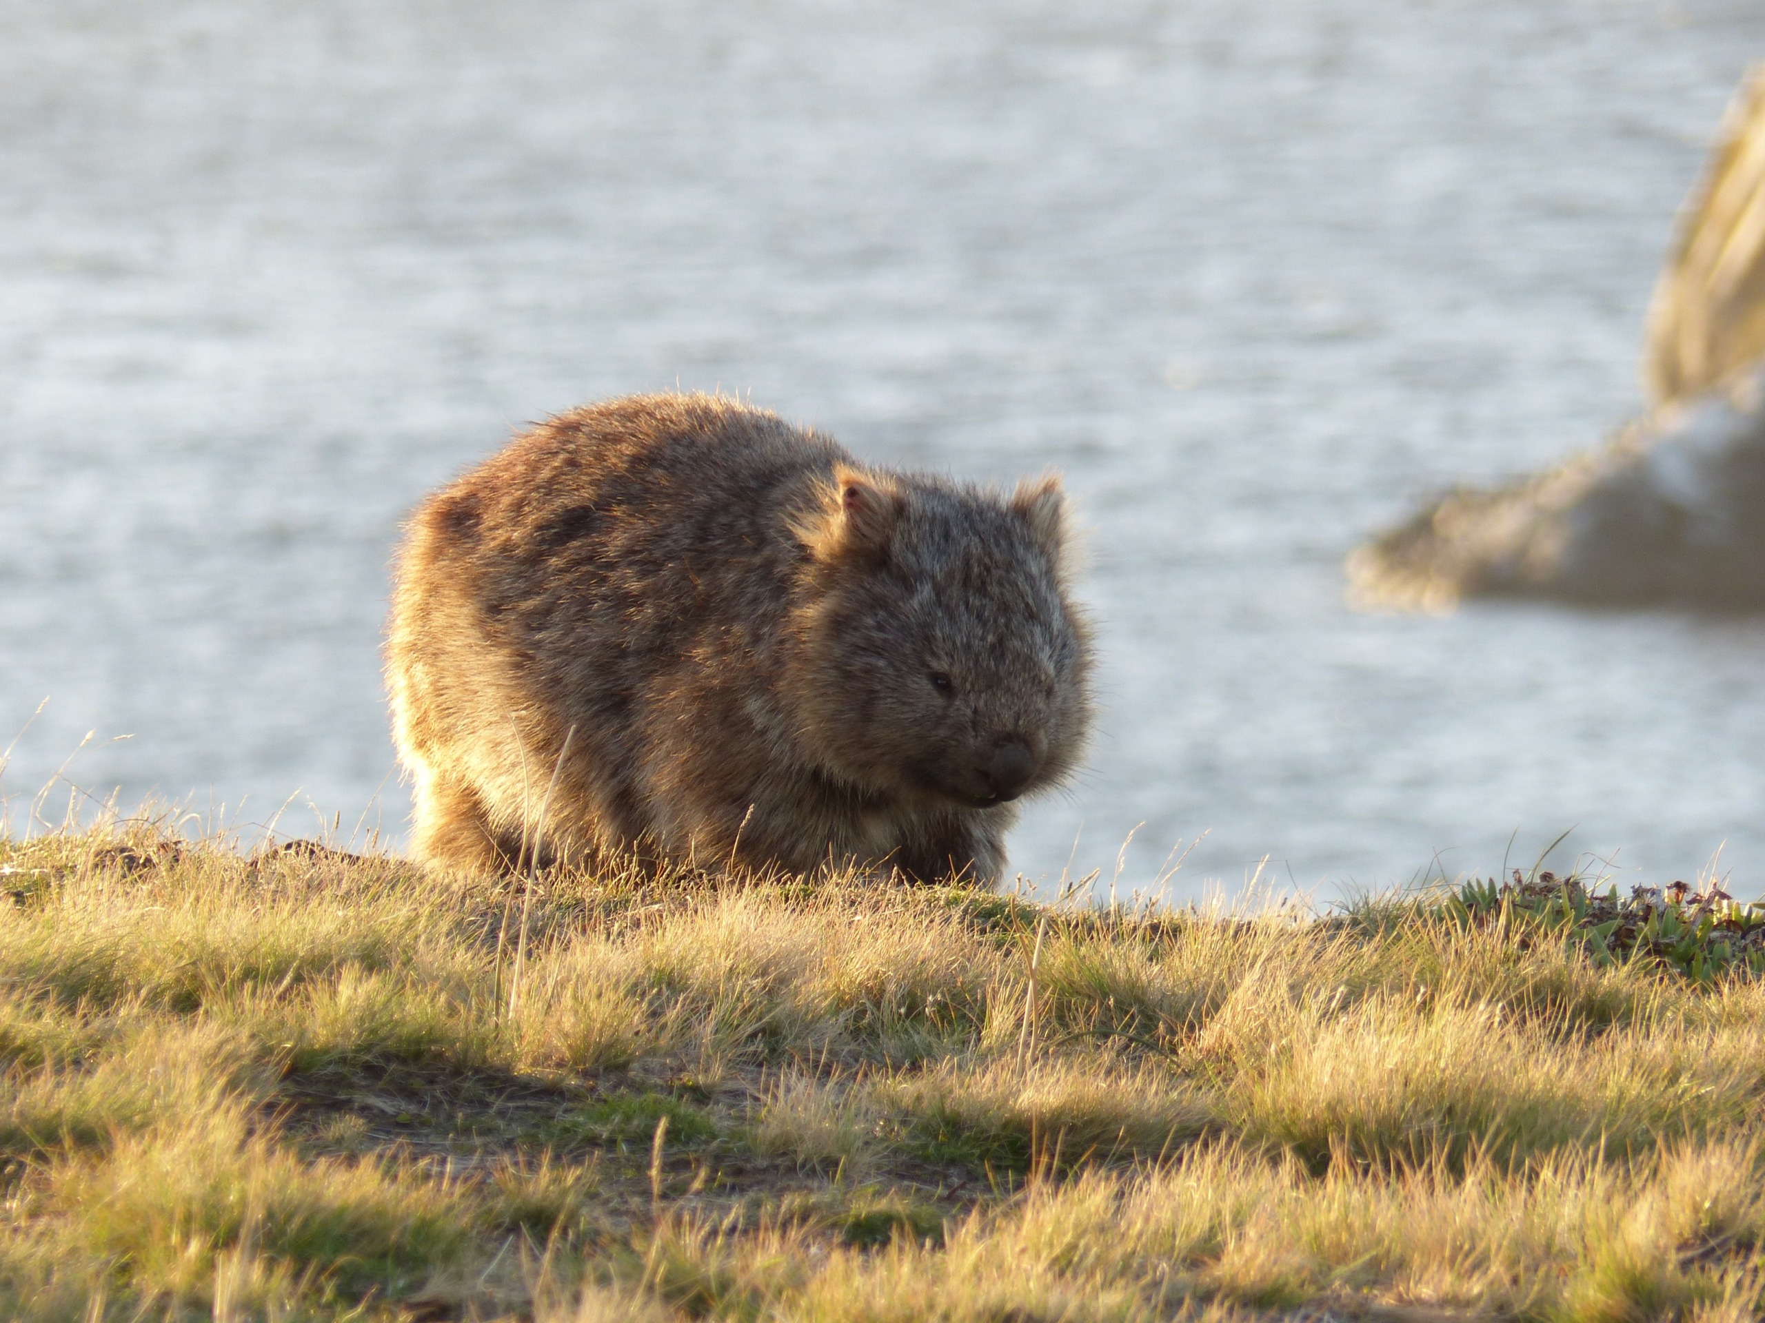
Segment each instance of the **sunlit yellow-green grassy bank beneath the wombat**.
[[0,868],[5,1318],[1765,1307],[1739,910]]

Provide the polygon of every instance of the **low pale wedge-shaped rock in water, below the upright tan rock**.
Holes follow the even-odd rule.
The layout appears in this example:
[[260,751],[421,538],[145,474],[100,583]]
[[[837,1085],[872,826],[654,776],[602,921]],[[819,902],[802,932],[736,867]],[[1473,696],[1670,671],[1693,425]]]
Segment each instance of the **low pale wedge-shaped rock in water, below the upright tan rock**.
[[1765,609],[1765,370],[1666,404],[1597,450],[1449,492],[1348,557],[1356,605],[1465,596]]

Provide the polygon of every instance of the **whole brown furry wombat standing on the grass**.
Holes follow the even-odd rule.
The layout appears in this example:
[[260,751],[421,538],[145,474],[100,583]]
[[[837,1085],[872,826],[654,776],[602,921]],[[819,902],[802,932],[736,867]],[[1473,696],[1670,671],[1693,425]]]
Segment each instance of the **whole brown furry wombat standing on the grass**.
[[997,878],[1008,801],[1091,720],[1068,563],[1052,476],[872,469],[706,395],[552,418],[409,524],[387,679],[413,852]]

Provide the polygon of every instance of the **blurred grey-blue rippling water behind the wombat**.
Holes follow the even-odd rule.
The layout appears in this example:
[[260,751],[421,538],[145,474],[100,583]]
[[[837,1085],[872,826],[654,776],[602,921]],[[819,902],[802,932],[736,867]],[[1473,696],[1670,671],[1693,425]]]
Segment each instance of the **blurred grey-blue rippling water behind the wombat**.
[[[524,420],[741,392],[1066,471],[1105,716],[1034,877],[1331,896],[1574,829],[1765,871],[1765,626],[1354,616],[1414,497],[1640,402],[1756,0],[0,0],[0,725],[397,840],[387,557]],[[131,736],[116,741],[116,736]],[[56,792],[51,817],[65,804]],[[1080,834],[1082,831],[1082,834]],[[1077,838],[1077,848],[1075,848]]]

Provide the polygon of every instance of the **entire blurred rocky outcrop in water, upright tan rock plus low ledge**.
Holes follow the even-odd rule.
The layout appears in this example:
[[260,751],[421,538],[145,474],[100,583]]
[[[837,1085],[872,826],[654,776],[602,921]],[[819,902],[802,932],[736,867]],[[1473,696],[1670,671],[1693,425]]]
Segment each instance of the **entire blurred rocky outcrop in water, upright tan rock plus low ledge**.
[[1348,557],[1361,607],[1467,596],[1765,609],[1765,65],[1724,122],[1649,314],[1652,411],[1606,445],[1460,489]]

